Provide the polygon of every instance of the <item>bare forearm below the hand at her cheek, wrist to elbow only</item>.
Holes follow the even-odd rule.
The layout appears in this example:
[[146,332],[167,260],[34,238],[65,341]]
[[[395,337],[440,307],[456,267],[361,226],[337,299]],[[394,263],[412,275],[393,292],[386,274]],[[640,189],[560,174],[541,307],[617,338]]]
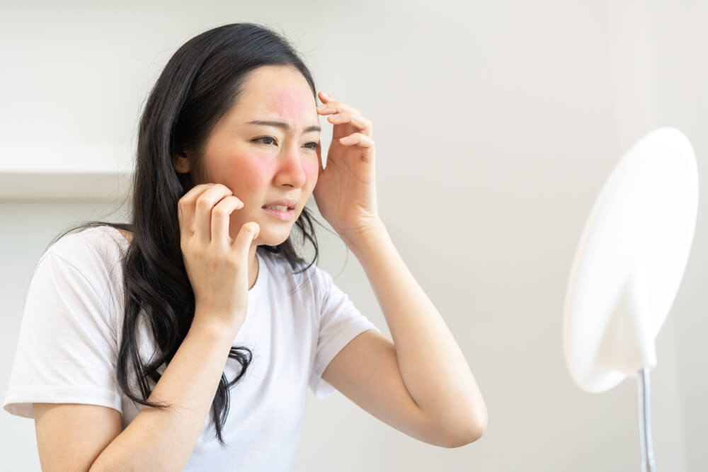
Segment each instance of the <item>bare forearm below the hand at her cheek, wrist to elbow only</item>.
[[148,400],[91,471],[181,471],[194,449],[238,330],[193,326]]

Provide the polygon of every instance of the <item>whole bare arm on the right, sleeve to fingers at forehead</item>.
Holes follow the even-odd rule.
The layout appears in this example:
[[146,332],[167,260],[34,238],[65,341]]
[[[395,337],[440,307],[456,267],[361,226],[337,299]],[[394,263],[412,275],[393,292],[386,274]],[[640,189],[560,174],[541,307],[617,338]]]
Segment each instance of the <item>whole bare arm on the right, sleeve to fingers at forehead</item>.
[[486,430],[486,405],[445,320],[379,217],[372,122],[326,93],[319,98],[317,113],[329,115],[333,139],[315,201],[364,268],[393,338],[358,335],[322,378],[406,434],[447,447],[469,444]]

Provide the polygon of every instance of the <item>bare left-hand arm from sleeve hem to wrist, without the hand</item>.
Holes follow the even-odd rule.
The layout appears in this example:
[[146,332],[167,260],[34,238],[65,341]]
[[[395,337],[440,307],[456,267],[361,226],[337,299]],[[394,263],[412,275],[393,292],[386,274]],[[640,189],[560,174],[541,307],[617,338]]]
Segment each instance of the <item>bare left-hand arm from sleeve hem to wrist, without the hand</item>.
[[42,471],[181,471],[207,419],[231,330],[193,324],[149,401],[121,432],[120,413],[98,405],[35,403]]

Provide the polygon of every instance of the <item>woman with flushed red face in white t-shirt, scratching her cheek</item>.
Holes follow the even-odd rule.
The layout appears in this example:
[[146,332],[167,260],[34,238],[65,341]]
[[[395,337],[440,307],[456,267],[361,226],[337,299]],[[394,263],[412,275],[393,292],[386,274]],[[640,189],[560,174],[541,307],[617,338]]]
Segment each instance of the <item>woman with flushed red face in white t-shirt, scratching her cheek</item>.
[[[42,468],[293,470],[308,385],[430,444],[483,434],[467,362],[379,218],[371,123],[315,90],[258,25],[170,59],[140,121],[132,224],[60,238],[30,285],[4,408],[35,419]],[[316,258],[311,193],[394,343],[297,255],[293,224]]]

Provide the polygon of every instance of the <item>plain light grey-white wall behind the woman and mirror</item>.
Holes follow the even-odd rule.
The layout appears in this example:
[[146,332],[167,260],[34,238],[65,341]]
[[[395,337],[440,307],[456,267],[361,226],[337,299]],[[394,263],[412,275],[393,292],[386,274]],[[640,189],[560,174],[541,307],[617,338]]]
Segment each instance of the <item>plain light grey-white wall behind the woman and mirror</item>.
[[[193,35],[236,21],[282,30],[319,88],[374,122],[382,218],[455,333],[486,398],[489,430],[469,446],[441,449],[339,393],[324,401],[310,394],[299,471],[638,470],[634,381],[599,396],[578,390],[562,357],[561,309],[586,215],[634,140],[678,127],[708,188],[708,4],[29,1],[0,8],[0,173],[130,168],[139,110],[166,60]],[[708,470],[705,208],[702,197],[683,286],[657,341],[653,425],[663,471]],[[36,260],[64,226],[113,209],[0,204],[0,392]],[[387,333],[360,265],[341,241],[319,235],[321,266]],[[0,444],[1,468],[39,469],[30,420],[1,413]]]

